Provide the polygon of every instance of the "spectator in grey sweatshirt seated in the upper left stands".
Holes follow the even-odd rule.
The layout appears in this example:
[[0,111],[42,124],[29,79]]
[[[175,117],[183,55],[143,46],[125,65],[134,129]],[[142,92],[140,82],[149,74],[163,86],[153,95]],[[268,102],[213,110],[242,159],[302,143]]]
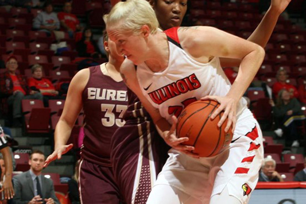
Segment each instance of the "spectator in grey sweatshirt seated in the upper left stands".
[[33,28],[39,31],[46,32],[51,36],[51,32],[60,28],[60,22],[56,13],[53,12],[51,1],[46,1],[44,11],[40,12],[33,20]]

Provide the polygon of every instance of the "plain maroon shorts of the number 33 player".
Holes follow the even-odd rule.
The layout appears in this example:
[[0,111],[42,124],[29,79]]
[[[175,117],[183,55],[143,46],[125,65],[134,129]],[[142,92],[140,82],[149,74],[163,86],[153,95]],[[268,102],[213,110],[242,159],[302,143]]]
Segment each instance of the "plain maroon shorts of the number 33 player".
[[80,163],[79,191],[81,204],[120,203],[112,168],[93,164],[85,159]]

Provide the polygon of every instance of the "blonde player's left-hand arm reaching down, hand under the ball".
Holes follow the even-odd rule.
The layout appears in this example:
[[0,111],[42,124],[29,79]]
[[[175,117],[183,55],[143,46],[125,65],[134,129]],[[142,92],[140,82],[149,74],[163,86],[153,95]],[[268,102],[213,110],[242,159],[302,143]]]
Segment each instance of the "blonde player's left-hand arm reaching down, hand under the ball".
[[136,78],[136,70],[133,62],[125,59],[121,65],[120,73],[125,84],[137,95],[146,111],[150,114],[159,135],[163,137],[165,142],[177,151],[199,158],[197,154],[191,153],[194,147],[181,144],[182,142],[188,141],[188,137],[177,138],[175,131],[177,119],[175,116],[172,117],[173,123],[170,125],[165,118],[161,117],[159,110],[153,107],[151,102],[144,96]]

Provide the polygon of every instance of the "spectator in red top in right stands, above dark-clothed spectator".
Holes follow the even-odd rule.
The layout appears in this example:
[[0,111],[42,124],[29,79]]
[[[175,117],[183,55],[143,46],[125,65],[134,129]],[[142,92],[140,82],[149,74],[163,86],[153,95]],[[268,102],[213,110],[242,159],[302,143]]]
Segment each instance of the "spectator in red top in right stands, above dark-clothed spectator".
[[274,83],[272,87],[272,92],[275,99],[278,97],[278,92],[282,89],[286,89],[290,93],[290,98],[298,98],[299,93],[294,85],[288,84],[286,81],[288,79],[288,74],[285,69],[278,69],[276,73],[277,82]]

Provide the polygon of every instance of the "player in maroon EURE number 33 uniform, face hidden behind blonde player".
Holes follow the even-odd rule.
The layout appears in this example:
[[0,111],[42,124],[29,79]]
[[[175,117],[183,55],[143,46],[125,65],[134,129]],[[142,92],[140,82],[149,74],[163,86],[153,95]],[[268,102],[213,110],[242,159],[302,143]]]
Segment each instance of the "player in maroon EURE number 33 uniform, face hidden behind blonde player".
[[81,148],[79,171],[80,200],[83,204],[119,204],[120,196],[110,163],[110,140],[123,126],[123,113],[127,109],[127,91],[119,74],[123,56],[115,44],[104,40],[109,62],[79,71],[68,89],[65,107],[55,128],[54,152],[45,166],[67,153],[66,145],[71,129],[83,108],[84,143]]

